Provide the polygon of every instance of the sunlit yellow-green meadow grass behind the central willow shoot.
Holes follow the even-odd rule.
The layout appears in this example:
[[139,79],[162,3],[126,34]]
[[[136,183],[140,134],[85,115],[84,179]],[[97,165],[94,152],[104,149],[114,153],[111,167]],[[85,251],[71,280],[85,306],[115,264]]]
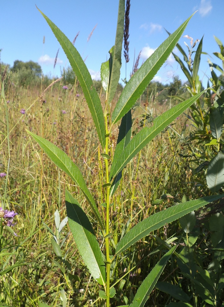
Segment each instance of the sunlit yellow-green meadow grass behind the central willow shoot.
[[[104,103],[103,95],[101,98]],[[150,120],[143,121],[145,115],[153,118],[167,108],[169,105],[158,105],[156,100],[142,101],[133,110],[133,134],[143,125],[151,125]],[[0,277],[0,302],[10,306],[37,306],[41,300],[59,306],[60,290],[64,289],[67,306],[100,306],[99,286],[84,266],[68,226],[63,228],[59,241],[64,258],[70,263],[70,271],[58,267],[51,244],[53,236],[44,225],[56,234],[54,212],[58,209],[61,220],[66,216],[65,189],[74,195],[87,215],[89,205],[79,188],[26,132],[30,130],[64,150],[81,169],[96,203],[101,204],[104,191],[98,174],[102,172],[102,157],[82,92],[75,87],[63,89],[62,85],[53,86],[44,94],[40,89],[14,87],[7,93],[6,103],[2,99],[0,113],[0,172],[7,173],[0,178],[1,201],[5,208],[18,212],[14,226],[18,237],[4,231],[6,241],[1,264],[3,269],[15,266]],[[188,158],[179,155],[188,153],[186,137],[191,129],[186,114],[182,115],[127,165],[113,197],[113,244],[116,245],[120,236],[138,221],[180,202],[184,195],[189,199],[209,195],[203,176],[198,178],[193,172],[194,162],[189,163]],[[111,137],[111,156],[117,135],[118,129],[115,129]],[[99,211],[103,214],[100,206]],[[90,215],[89,219],[93,227],[97,227],[94,217]],[[161,257],[160,240],[177,235],[180,235],[178,222],[166,225],[122,255],[111,271],[117,292],[113,306],[131,300],[136,288]],[[154,256],[149,258],[150,253]],[[125,278],[120,280],[123,275]],[[175,262],[161,276],[161,280],[173,284],[179,284],[180,278],[183,276]],[[155,289],[150,295],[150,306],[165,306],[169,300],[168,294]]]

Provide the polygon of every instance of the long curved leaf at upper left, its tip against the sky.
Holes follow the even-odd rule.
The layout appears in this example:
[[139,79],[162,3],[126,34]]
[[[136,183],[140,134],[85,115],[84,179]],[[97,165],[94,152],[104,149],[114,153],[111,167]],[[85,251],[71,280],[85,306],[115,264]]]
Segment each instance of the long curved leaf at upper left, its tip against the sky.
[[58,27],[52,21],[50,21],[50,19],[45,14],[43,14],[40,10],[39,12],[43,15],[55,37],[57,38],[58,42],[62,46],[62,49],[64,50],[70,62],[70,65],[78,78],[78,81],[82,87],[83,94],[86,98],[86,102],[93,117],[100,143],[104,148],[106,144],[106,130],[103,110],[97,91],[93,86],[90,72],[88,71],[86,64],[82,60],[81,55],[74,47],[74,45],[70,42],[70,40],[66,37],[66,35],[60,29],[58,29]]

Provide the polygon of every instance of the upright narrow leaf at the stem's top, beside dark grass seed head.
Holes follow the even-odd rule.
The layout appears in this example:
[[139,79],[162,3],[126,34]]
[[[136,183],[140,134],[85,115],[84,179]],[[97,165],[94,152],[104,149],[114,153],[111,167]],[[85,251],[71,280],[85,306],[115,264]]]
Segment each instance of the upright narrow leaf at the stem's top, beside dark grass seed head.
[[125,0],[119,0],[118,6],[118,22],[117,31],[115,37],[115,44],[110,49],[110,80],[107,101],[108,103],[114,98],[115,91],[118,86],[120,79],[120,69],[121,69],[121,51],[122,51],[122,41],[124,35],[124,13],[125,13]]

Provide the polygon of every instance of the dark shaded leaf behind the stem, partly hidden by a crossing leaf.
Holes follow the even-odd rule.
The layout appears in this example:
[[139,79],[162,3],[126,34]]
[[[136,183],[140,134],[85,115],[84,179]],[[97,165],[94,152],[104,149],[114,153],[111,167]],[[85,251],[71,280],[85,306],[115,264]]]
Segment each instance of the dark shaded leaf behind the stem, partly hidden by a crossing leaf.
[[[115,148],[115,151],[114,151],[115,157],[116,157],[116,152],[117,151],[123,151],[125,149],[126,145],[130,142],[130,140],[131,140],[131,126],[132,126],[131,110],[129,110],[128,113],[125,114],[122,117],[122,120],[121,120],[117,145],[116,145],[116,148]],[[116,191],[116,189],[117,189],[117,187],[120,183],[121,178],[122,178],[122,170],[114,178],[114,181],[113,181],[111,188],[110,188],[110,197],[113,196],[114,192]]]

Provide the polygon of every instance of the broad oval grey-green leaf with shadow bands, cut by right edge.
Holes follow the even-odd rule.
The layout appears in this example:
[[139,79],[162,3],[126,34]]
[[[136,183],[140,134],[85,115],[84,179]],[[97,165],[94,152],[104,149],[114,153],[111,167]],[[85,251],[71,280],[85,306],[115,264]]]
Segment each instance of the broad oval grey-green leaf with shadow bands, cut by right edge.
[[213,193],[224,185],[224,154],[221,151],[211,159],[207,169],[206,180]]

